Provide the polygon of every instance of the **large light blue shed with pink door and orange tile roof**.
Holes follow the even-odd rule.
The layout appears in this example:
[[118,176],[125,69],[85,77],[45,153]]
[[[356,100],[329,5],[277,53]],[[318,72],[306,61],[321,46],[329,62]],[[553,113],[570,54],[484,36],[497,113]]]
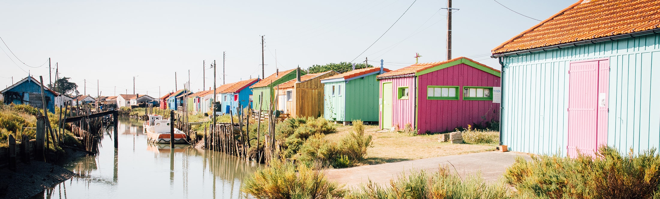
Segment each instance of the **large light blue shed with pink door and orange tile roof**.
[[660,146],[659,10],[655,0],[581,0],[494,48],[500,142],[570,157]]

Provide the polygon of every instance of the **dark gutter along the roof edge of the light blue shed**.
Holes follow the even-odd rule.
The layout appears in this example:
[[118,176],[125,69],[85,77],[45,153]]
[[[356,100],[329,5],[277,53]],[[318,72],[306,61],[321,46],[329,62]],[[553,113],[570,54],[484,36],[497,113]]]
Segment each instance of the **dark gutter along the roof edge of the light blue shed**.
[[[561,49],[564,47],[573,47],[573,46],[578,46],[578,45],[585,45],[585,44],[591,44],[591,43],[599,43],[599,42],[608,42],[608,41],[614,41],[614,40],[621,40],[621,39],[626,39],[626,38],[634,38],[637,36],[644,36],[647,34],[659,34],[660,33],[660,28],[655,28],[651,30],[644,30],[640,32],[631,32],[627,34],[620,34],[620,35],[614,35],[614,36],[607,36],[604,38],[597,38],[597,39],[591,39],[591,40],[582,40],[582,41],[576,41],[576,42],[569,42],[569,43],[559,43],[555,45],[549,45],[546,47],[537,47],[533,49],[525,49],[525,50],[520,50],[520,51],[510,51],[498,55],[492,55],[490,57],[492,58],[498,58],[498,57],[508,57],[511,55],[521,55],[525,53],[535,53],[539,51],[548,51],[551,49]],[[501,64],[501,61],[500,61]],[[502,72],[504,72],[504,66],[502,67]]]

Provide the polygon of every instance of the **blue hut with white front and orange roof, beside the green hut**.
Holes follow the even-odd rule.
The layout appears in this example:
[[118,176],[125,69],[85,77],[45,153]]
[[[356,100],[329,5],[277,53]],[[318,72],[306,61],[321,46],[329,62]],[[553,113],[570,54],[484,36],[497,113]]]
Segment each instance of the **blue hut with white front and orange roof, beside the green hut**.
[[242,80],[220,92],[222,94],[220,97],[220,100],[222,100],[222,112],[228,114],[231,110],[234,115],[238,115],[240,112],[237,112],[236,108],[240,106],[241,109],[244,109],[253,103],[252,90],[249,89],[249,86],[252,86],[258,81],[259,78]]

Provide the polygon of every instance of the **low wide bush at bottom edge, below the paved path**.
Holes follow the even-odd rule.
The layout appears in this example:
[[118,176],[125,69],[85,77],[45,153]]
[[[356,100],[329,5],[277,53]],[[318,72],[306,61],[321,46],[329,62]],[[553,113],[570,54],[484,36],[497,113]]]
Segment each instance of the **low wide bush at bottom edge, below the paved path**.
[[448,167],[440,167],[437,172],[411,171],[401,173],[389,186],[372,183],[360,185],[346,198],[512,198],[513,194],[503,183],[488,185],[480,175],[468,175],[462,179],[451,174]]

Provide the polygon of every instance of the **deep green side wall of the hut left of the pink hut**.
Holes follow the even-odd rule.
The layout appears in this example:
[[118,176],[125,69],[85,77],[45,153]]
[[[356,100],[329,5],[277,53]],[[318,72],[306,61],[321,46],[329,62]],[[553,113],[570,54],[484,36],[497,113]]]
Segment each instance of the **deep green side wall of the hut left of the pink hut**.
[[378,81],[376,74],[348,81],[346,121],[378,121]]

